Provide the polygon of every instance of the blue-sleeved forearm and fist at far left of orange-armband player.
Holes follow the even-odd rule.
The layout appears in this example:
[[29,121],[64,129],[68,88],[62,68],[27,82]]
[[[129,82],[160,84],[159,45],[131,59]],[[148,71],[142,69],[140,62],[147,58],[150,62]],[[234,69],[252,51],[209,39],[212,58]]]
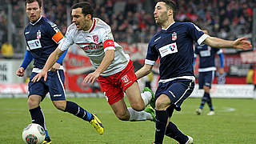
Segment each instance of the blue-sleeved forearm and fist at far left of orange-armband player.
[[26,67],[29,66],[30,62],[33,60],[33,56],[32,54],[30,53],[29,50],[26,50],[26,54],[25,54],[25,58],[23,59],[23,62],[22,62],[22,66],[20,66],[18,68],[18,70],[16,71],[16,75],[18,77],[23,77],[24,76],[24,73],[25,73],[25,70],[26,70]]

